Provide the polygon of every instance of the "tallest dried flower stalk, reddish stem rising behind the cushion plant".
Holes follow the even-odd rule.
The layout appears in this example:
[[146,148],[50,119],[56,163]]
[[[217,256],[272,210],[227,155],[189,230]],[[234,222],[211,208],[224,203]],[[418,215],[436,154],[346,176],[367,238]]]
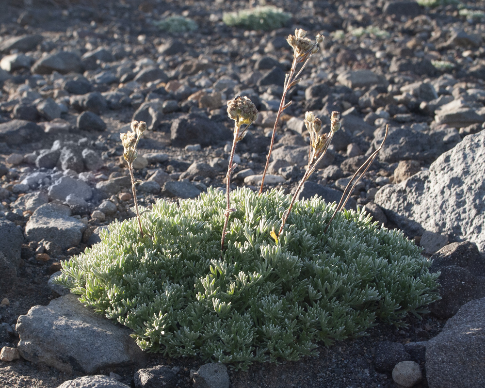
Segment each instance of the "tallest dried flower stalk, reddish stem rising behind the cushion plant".
[[[291,105],[291,101],[286,103],[286,95],[301,78],[298,78],[302,70],[307,65],[312,54],[318,51],[318,44],[323,41],[323,36],[317,34],[315,37],[315,42],[305,37],[307,32],[302,29],[295,30],[294,35],[289,35],[287,42],[293,48],[293,63],[291,64],[291,70],[289,74],[285,76],[285,83],[283,85],[283,95],[281,96],[281,101],[279,103],[278,113],[276,114],[275,125],[273,127],[273,134],[271,135],[270,149],[268,155],[266,156],[266,165],[264,166],[263,176],[261,178],[261,187],[259,188],[259,194],[263,192],[264,178],[266,177],[266,171],[268,170],[268,165],[270,163],[271,153],[273,152],[273,146],[275,144],[275,134],[276,128],[278,126],[279,118],[283,111]],[[300,70],[296,73],[296,67],[299,63],[301,65]],[[295,74],[296,73],[296,74]]]

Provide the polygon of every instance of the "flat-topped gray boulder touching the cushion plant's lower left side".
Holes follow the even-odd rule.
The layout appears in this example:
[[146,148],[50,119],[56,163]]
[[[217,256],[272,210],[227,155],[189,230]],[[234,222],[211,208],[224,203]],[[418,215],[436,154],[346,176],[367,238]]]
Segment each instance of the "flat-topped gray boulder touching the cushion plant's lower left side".
[[104,368],[143,366],[146,356],[131,330],[84,307],[68,294],[18,317],[20,355],[60,371],[93,374]]

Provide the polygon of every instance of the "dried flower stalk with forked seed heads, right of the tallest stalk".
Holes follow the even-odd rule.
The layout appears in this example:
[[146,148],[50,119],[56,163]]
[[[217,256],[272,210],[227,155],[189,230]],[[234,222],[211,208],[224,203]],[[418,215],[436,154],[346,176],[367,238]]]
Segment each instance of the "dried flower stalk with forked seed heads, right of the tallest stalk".
[[[305,123],[305,127],[307,127],[308,132],[310,132],[310,149],[308,152],[307,171],[305,171],[305,175],[296,188],[296,192],[291,199],[290,207],[283,213],[281,227],[279,228],[277,236],[278,238],[283,231],[286,221],[288,220],[288,216],[290,215],[291,209],[295,203],[296,197],[298,196],[303,184],[307,181],[310,175],[313,174],[318,163],[320,163],[323,156],[325,156],[328,146],[330,146],[330,143],[332,142],[334,133],[340,129],[340,115],[338,112],[332,112],[330,117],[329,133],[320,133],[322,121],[318,117],[315,117],[313,112],[305,113],[305,120],[303,120],[303,122]],[[275,241],[277,241],[277,238]]]

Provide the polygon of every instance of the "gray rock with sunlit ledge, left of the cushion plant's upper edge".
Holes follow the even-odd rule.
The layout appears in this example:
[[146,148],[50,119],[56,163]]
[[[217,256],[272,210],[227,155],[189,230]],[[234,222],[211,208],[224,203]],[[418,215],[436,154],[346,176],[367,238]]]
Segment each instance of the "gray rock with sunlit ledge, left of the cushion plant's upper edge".
[[81,242],[86,226],[70,216],[67,206],[48,203],[35,210],[25,226],[29,241],[52,241],[63,249],[77,246]]

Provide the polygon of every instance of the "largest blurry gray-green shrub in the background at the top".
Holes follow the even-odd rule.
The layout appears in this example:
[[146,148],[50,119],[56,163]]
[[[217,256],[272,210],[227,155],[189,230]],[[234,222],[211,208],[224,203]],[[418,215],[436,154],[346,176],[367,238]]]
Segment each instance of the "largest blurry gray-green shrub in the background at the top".
[[227,26],[264,31],[284,27],[290,19],[290,14],[273,6],[258,6],[238,12],[228,12],[222,16],[222,21]]

